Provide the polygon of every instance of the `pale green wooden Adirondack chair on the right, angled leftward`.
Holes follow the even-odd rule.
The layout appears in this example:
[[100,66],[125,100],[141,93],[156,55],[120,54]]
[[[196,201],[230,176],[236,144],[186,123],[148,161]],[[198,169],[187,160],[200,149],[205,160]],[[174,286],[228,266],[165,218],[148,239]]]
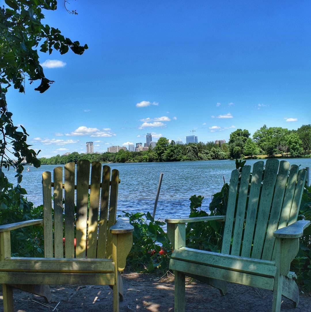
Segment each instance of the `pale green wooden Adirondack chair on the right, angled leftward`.
[[[281,295],[299,302],[297,276],[289,271],[299,237],[310,222],[297,221],[306,171],[287,161],[268,159],[233,170],[226,216],[166,219],[173,244],[170,269],[175,270],[175,311],[185,310],[185,275],[227,293],[226,281],[273,291],[272,311],[280,311]],[[262,183],[263,179],[263,183]],[[239,191],[238,191],[239,190]],[[221,253],[187,248],[185,223],[225,221]],[[199,275],[198,275],[199,274]]]

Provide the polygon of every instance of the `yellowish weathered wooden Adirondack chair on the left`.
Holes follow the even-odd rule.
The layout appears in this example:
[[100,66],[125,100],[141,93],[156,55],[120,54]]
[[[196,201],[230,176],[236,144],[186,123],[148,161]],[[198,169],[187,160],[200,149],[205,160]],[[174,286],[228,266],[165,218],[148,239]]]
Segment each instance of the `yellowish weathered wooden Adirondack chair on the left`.
[[[112,170],[110,179],[110,167],[103,166],[102,170],[100,163],[93,162],[90,185],[89,178],[90,163],[87,160],[78,161],[76,185],[74,163],[65,165],[65,184],[62,167],[54,169],[54,183],[51,183],[51,173],[44,172],[44,219],[0,226],[0,284],[4,311],[13,311],[12,286],[50,299],[49,284],[110,285],[113,289],[113,311],[119,310],[119,296],[122,300],[120,272],[132,248],[133,227],[128,218],[116,221],[118,170]],[[44,226],[45,258],[11,257],[10,231],[29,225]]]

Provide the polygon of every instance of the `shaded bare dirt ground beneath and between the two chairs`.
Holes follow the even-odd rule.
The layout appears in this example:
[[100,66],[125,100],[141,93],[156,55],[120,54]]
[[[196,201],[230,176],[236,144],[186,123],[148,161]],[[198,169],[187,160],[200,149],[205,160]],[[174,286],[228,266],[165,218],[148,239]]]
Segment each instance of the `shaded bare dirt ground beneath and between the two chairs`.
[[[174,276],[125,273],[124,301],[120,311],[174,311]],[[271,311],[272,292],[228,283],[229,293],[221,296],[209,285],[188,278],[186,280],[186,311]],[[14,290],[14,311],[112,311],[112,290],[109,286],[51,286],[52,300]],[[48,305],[48,306],[45,306]],[[0,293],[0,311],[3,311]],[[281,311],[311,311],[311,296],[300,294],[297,308],[282,297]]]

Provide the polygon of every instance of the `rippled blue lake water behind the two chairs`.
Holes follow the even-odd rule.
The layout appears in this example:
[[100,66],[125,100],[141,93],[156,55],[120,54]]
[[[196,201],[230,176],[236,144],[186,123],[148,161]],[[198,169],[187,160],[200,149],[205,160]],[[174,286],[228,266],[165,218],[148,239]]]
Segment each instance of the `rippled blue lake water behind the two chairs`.
[[[311,167],[311,158],[286,159],[290,164],[300,165],[300,168]],[[256,159],[247,160],[252,165]],[[264,160],[266,161],[266,160]],[[189,197],[196,194],[204,196],[202,208],[208,211],[212,194],[221,190],[223,179],[229,183],[230,174],[235,169],[234,160],[210,160],[170,163],[111,163],[111,168],[120,171],[121,183],[118,193],[118,212],[151,212],[153,211],[155,195],[160,173],[163,180],[156,218],[189,216]],[[22,187],[27,190],[28,200],[35,206],[42,204],[41,174],[51,171],[57,165],[43,165],[40,168],[30,167],[23,171]],[[6,173],[10,182],[16,183],[15,171]]]

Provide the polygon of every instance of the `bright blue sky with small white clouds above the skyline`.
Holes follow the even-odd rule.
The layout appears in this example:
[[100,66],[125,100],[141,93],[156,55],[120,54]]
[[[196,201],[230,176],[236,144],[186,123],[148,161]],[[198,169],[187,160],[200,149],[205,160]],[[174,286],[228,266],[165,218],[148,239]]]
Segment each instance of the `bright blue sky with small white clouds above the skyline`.
[[194,129],[199,141],[228,141],[238,128],[311,122],[310,1],[77,0],[68,8],[79,14],[59,1],[44,23],[89,49],[41,53],[55,83],[7,96],[40,157],[85,152],[87,141],[98,152],[144,143],[147,132],[185,142]]

